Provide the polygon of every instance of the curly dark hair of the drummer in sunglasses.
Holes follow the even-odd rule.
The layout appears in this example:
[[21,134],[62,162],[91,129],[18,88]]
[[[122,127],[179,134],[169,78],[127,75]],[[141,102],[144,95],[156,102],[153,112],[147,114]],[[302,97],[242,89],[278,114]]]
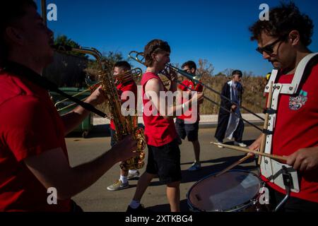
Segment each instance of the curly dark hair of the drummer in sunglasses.
[[271,9],[269,20],[259,20],[249,27],[252,32],[251,40],[261,40],[261,33],[273,37],[284,38],[292,30],[298,30],[300,41],[305,47],[312,43],[314,24],[309,16],[301,13],[299,8],[290,1],[288,4],[281,3],[281,6]]

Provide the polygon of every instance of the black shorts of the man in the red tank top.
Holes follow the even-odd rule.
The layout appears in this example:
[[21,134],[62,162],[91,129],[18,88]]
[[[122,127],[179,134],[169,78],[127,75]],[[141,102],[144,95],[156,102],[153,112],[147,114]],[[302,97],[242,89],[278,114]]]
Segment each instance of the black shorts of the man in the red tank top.
[[181,181],[180,149],[177,140],[155,147],[148,145],[148,174],[157,174],[160,182]]

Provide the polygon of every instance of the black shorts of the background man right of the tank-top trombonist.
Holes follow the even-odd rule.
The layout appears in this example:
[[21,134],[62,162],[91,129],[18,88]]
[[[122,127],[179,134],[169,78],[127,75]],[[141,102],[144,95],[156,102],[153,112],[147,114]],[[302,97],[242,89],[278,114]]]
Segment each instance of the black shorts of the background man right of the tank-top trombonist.
[[199,121],[193,124],[187,124],[184,123],[184,120],[177,118],[177,121],[175,121],[175,129],[177,129],[179,138],[182,138],[182,140],[187,136],[188,141],[198,141]]

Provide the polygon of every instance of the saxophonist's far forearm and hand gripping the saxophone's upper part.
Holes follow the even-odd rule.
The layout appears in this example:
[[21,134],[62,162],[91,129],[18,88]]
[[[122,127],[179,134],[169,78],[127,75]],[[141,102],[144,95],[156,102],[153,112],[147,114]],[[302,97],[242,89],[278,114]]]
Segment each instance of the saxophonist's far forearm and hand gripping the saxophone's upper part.
[[[100,87],[101,88],[101,87]],[[105,101],[105,96],[103,95],[102,91],[98,88],[94,91],[92,95],[90,95],[84,102],[87,102],[90,105],[93,105],[94,107],[96,105],[100,105],[102,102]],[[76,107],[71,112],[68,112],[61,116],[62,121],[64,122],[64,134],[67,135],[73,129],[76,129],[76,127],[81,124],[81,122],[88,117],[88,114],[90,112],[86,109],[84,109],[81,106]]]

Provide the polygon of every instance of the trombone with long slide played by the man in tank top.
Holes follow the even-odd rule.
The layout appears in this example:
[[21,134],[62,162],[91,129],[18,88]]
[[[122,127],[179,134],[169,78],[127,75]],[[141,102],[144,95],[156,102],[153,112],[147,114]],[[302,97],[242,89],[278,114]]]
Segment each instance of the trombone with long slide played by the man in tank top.
[[[128,54],[129,59],[133,59],[134,61],[139,62],[139,64],[143,64],[145,65],[144,62],[144,57],[143,57],[143,52],[136,52],[136,51],[131,51]],[[213,93],[216,93],[218,95],[220,95],[221,98],[228,100],[232,103],[232,105],[237,105],[237,103],[232,102],[232,100],[230,100],[228,97],[225,97],[224,95],[222,95],[220,92],[214,90],[213,88],[205,85],[204,83],[201,83],[201,81],[199,81],[199,78],[201,78],[201,76],[193,76],[190,73],[187,73],[185,71],[182,71],[181,69],[178,69],[176,66],[172,66],[172,64],[166,64],[166,69],[170,69],[172,71],[175,71],[176,73],[181,74],[182,76],[186,77],[187,79],[193,81],[194,84],[200,84],[202,85],[204,88],[207,88],[208,90],[211,90]],[[164,72],[163,72],[164,74]],[[165,74],[164,74],[165,75]],[[169,79],[169,78],[168,78]],[[179,85],[183,85],[185,88],[188,88],[189,90],[195,91],[192,88],[189,88],[187,85],[184,85],[183,83],[181,83],[180,81],[177,81],[177,83]],[[243,121],[245,121],[247,124],[254,126],[255,129],[258,129],[259,131],[263,131],[262,129],[259,128],[259,126],[256,126],[254,124],[252,124],[251,122],[247,121],[246,119],[243,119],[239,114],[236,114],[235,112],[231,112],[230,110],[226,109],[225,107],[221,106],[218,102],[215,102],[213,100],[211,100],[211,98],[204,96],[204,99],[212,102],[214,105],[218,105],[220,108],[224,109],[226,112],[229,112],[230,114],[235,114],[236,117],[242,119]],[[249,112],[250,114],[253,114],[255,117],[261,119],[262,121],[264,121],[265,119],[263,119],[262,117],[260,117],[259,115],[255,114],[254,112],[252,112],[251,110],[247,109],[246,107],[240,106],[242,109],[245,109],[247,112]]]

